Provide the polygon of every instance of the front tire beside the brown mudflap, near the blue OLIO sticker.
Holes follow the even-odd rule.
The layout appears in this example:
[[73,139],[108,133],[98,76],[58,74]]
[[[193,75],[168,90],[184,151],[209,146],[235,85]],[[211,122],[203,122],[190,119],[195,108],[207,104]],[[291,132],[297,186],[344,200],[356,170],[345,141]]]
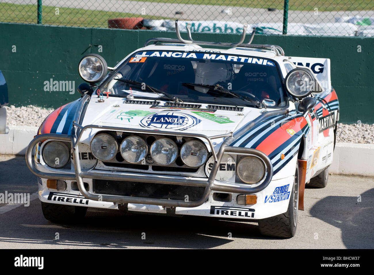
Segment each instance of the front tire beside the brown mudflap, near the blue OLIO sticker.
[[283,214],[258,221],[260,233],[264,236],[292,238],[295,236],[299,203],[299,169],[296,167],[294,184],[289,198],[288,210]]

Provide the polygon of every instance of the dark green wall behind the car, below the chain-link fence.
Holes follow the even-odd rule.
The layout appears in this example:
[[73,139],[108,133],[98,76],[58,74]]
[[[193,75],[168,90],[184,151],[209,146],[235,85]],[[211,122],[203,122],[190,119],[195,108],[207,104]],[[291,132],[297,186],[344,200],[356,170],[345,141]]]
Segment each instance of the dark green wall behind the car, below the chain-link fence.
[[[83,82],[77,70],[83,55],[98,53],[111,67],[152,37],[176,35],[148,30],[0,23],[0,69],[8,84],[9,103],[57,108],[75,100],[78,92],[44,91],[44,82],[51,78],[74,80],[76,90]],[[239,35],[199,33],[194,34],[194,39],[236,42]],[[291,56],[330,58],[332,86],[340,101],[340,122],[374,123],[373,38],[256,35],[252,43],[280,45]],[[99,45],[102,52],[98,52]],[[359,45],[361,52],[357,51]]]

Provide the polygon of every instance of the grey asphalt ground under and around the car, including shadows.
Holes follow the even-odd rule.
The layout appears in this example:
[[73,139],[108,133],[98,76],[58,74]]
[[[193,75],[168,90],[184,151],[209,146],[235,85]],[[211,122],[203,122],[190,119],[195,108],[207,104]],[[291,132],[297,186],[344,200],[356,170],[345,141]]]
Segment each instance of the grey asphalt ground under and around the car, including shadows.
[[80,224],[54,224],[43,217],[37,178],[22,156],[0,155],[6,191],[30,193],[31,202],[0,204],[0,248],[374,248],[374,178],[330,175],[326,188],[306,189],[291,239],[261,236],[252,222],[119,210],[89,209]]

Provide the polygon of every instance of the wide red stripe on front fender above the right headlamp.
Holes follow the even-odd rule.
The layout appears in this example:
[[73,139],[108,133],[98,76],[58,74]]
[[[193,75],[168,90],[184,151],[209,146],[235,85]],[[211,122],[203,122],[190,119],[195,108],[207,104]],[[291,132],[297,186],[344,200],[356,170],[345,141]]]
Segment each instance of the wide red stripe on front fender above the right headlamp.
[[[257,150],[270,155],[275,149],[285,143],[291,135],[288,134],[286,129],[293,129],[295,132],[300,131],[307,124],[305,117],[297,117],[276,129],[269,137],[265,138],[257,147]],[[293,126],[292,126],[293,125]],[[292,126],[292,127],[289,127]]]

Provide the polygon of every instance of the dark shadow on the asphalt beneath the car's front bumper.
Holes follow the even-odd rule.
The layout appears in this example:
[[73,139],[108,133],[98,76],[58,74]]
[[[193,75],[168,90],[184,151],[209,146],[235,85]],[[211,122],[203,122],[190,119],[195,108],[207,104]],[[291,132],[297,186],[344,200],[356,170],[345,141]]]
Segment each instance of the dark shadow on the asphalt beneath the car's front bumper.
[[238,238],[263,239],[256,223],[214,217],[169,217],[91,208],[79,224],[57,224],[43,217],[39,199],[30,207],[20,206],[11,212],[0,218],[0,242],[7,242],[9,248],[12,243],[26,247],[57,245],[55,248],[215,248]]

